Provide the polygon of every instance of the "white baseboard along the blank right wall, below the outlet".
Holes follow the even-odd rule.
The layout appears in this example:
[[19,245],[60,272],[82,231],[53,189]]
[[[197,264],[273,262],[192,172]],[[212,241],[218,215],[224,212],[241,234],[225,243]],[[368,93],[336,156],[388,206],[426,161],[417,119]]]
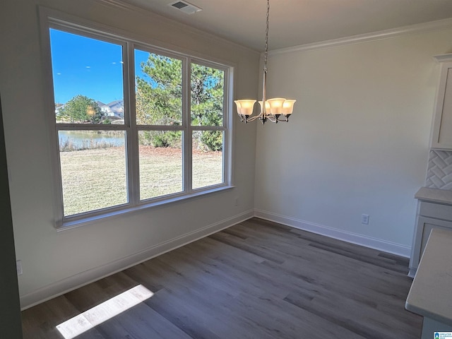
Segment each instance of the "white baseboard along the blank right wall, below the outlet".
[[325,235],[326,237],[343,240],[344,242],[350,242],[352,244],[366,246],[370,247],[371,249],[378,249],[379,251],[385,251],[391,254],[396,254],[398,256],[403,256],[405,258],[410,258],[411,248],[402,244],[396,244],[393,242],[387,242],[386,240],[367,237],[362,234],[338,230],[337,228],[318,225],[314,222],[298,220],[284,215],[270,213],[265,210],[255,209],[254,216],[256,216],[257,218],[278,222],[280,224],[294,227],[299,230],[305,230],[316,234]]

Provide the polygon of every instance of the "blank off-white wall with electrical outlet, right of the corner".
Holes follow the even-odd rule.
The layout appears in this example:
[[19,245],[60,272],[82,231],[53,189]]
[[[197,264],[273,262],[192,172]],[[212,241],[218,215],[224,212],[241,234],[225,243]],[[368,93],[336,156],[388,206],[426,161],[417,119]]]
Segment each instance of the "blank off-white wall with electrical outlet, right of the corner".
[[439,81],[433,56],[452,52],[451,35],[272,55],[268,97],[298,101],[288,124],[258,128],[257,214],[409,256]]

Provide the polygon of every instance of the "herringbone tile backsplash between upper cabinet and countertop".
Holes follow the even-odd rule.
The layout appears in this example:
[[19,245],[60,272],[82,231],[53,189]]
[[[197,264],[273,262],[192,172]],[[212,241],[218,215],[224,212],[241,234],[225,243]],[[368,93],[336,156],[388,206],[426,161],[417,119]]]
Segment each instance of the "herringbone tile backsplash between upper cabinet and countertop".
[[425,186],[452,190],[452,151],[430,150]]

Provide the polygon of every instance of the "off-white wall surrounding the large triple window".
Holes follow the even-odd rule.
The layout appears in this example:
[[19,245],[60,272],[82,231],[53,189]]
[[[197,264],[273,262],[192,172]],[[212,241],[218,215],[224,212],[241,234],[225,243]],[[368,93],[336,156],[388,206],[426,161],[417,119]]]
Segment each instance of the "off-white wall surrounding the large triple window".
[[[256,127],[234,132],[235,188],[182,203],[57,232],[52,149],[46,125],[37,5],[142,35],[156,44],[237,65],[235,97],[258,90],[258,53],[144,11],[89,0],[6,0],[0,4],[0,93],[23,307],[249,218],[254,207]],[[239,206],[234,206],[239,197]]]

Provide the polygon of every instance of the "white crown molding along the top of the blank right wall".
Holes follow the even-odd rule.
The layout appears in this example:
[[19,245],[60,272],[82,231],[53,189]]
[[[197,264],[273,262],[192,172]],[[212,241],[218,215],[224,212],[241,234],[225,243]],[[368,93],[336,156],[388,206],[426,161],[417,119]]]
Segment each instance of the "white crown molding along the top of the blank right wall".
[[360,35],[352,35],[351,37],[340,37],[338,39],[326,40],[321,42],[313,42],[311,44],[300,44],[299,46],[287,47],[282,49],[273,49],[268,55],[285,54],[292,52],[311,51],[314,49],[323,49],[329,47],[345,46],[347,44],[359,44],[361,42],[369,42],[374,40],[391,39],[403,35],[410,35],[420,32],[428,32],[431,30],[441,30],[452,27],[452,18],[444,20],[431,21],[429,23],[419,23],[416,25],[408,25],[390,30],[380,30]]

